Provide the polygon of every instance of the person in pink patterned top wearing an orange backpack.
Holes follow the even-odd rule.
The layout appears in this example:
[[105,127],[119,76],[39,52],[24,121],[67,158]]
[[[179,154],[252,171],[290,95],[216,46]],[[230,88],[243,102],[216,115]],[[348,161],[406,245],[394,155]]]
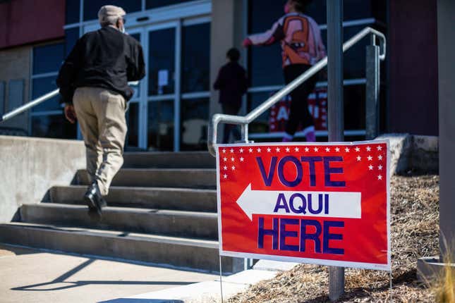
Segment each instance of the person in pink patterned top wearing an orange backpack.
[[[304,14],[308,3],[308,0],[288,0],[284,6],[285,15],[279,18],[270,30],[250,35],[243,40],[243,47],[281,43],[286,85],[305,73],[326,54],[317,23]],[[291,92],[291,110],[283,142],[293,140],[300,123],[306,140],[316,141],[314,121],[307,102],[316,82],[317,76],[314,75]]]

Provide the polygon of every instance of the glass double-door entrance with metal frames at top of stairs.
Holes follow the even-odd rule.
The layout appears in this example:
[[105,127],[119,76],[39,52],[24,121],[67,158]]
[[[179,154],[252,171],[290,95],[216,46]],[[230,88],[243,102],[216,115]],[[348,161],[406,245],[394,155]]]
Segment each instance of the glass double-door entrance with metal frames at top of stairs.
[[[207,148],[210,15],[193,13],[198,17],[133,23],[130,27],[127,19],[126,32],[141,42],[147,71],[133,86],[135,94],[126,113],[127,150]],[[97,28],[99,25],[85,26],[84,31]]]

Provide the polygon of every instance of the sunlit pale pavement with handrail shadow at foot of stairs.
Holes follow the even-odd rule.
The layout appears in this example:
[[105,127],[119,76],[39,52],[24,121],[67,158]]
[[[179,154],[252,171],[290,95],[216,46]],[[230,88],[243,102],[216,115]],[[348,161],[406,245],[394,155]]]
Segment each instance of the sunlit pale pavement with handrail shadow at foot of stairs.
[[0,302],[99,302],[217,276],[0,245]]

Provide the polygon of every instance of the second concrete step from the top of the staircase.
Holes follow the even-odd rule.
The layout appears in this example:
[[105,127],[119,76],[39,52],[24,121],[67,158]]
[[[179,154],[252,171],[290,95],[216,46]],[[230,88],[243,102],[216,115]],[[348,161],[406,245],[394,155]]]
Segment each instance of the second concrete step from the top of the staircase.
[[[77,174],[78,184],[88,185],[87,171]],[[217,187],[216,170],[205,168],[122,168],[112,180],[113,186],[135,187]]]

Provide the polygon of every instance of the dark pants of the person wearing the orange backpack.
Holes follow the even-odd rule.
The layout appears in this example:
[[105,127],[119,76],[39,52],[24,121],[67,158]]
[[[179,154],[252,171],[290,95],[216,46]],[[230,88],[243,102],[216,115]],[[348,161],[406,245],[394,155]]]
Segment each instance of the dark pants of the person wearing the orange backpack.
[[[306,64],[291,64],[284,67],[284,80],[286,85],[296,79],[299,75],[305,73],[311,66]],[[303,82],[291,92],[291,111],[289,113],[289,120],[286,123],[286,132],[289,135],[294,135],[301,124],[303,128],[314,125],[313,117],[308,110],[308,95],[313,92],[317,82],[317,75]]]

